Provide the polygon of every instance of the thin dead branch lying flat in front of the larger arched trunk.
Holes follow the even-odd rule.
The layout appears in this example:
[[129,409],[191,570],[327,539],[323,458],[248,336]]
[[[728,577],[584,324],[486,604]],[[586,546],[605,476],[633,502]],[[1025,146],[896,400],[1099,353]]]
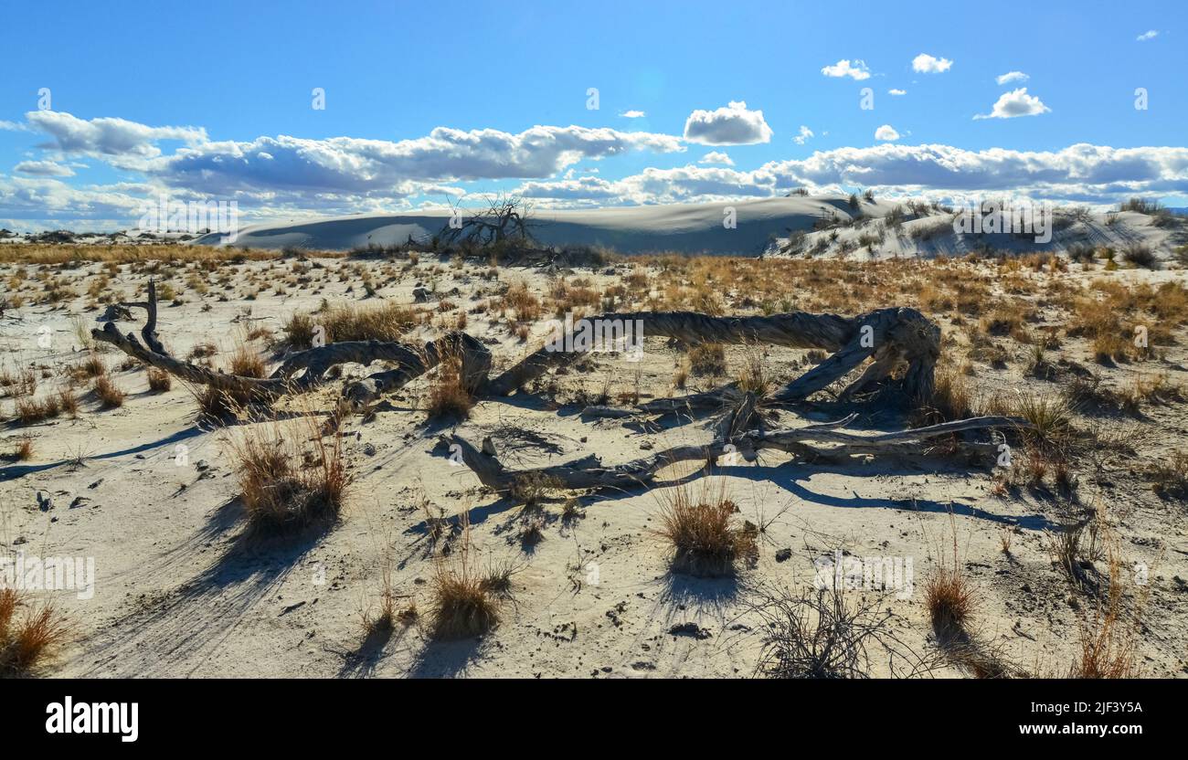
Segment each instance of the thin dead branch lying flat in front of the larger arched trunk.
[[[750,430],[729,437],[720,436],[704,445],[681,445],[659,451],[647,457],[625,462],[623,464],[602,464],[596,455],[590,455],[565,464],[554,464],[525,470],[510,470],[503,466],[498,456],[486,454],[494,445],[485,439],[482,449],[457,435],[441,436],[451,452],[460,455],[462,462],[479,476],[479,481],[498,492],[511,490],[519,483],[538,481],[565,489],[586,488],[633,488],[649,484],[656,474],[677,462],[716,462],[726,454],[738,454],[747,461],[753,461],[762,449],[773,449],[794,455],[824,456],[845,460],[851,455],[866,454],[874,456],[921,457],[929,454],[925,442],[968,430],[986,430],[994,428],[1025,428],[1025,420],[1015,417],[974,417],[928,428],[916,428],[898,432],[878,435],[855,435],[841,429],[852,423],[857,414],[833,423],[821,423],[789,430]],[[821,449],[809,444],[838,444]],[[993,444],[979,444],[959,441],[959,448],[990,456],[996,451]],[[456,448],[455,448],[456,446]],[[728,448],[732,446],[732,448]]]

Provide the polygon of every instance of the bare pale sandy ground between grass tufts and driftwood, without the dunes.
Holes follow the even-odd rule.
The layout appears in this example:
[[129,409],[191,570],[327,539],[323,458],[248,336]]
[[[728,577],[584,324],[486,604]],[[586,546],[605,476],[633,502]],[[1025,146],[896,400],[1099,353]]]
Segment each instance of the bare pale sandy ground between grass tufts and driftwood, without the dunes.
[[[428,256],[392,279],[379,272],[388,266],[381,261],[321,264],[324,268],[312,272],[311,283],[290,286],[284,294],[272,285],[287,277],[289,262],[248,261],[202,273],[211,291],[185,292],[184,303],[164,308],[158,330],[176,355],[214,343],[221,352],[214,363],[225,366],[238,336],[257,328],[279,336],[290,315],[314,310],[323,298],[411,305],[415,284],[434,279],[438,293],[453,293],[448,298],[465,308],[473,293],[499,281],[523,281],[544,292],[550,277],[501,270],[492,283],[484,277],[486,267],[444,267]],[[0,278],[17,267],[36,268],[0,265]],[[384,283],[377,297],[360,300],[361,289],[340,274],[343,267],[375,270]],[[88,264],[64,274],[86,283],[101,268]],[[132,268],[124,265],[110,283],[127,297],[150,277]],[[605,286],[625,271],[576,274]],[[228,273],[232,285],[217,285],[216,276]],[[259,285],[247,290],[260,290],[245,300],[245,283],[253,273]],[[1124,281],[1183,281],[1182,270],[1113,276]],[[1091,277],[1101,272],[1064,276],[1082,285]],[[87,356],[75,317],[90,327],[96,314],[86,310],[84,297],[10,309],[0,321],[0,362],[12,370],[36,367],[45,376],[39,393],[51,392],[62,368]],[[488,338],[497,365],[507,365],[526,344],[497,322],[491,314],[472,315],[467,330]],[[38,343],[45,325],[49,347]],[[134,327],[121,323],[126,330]],[[1136,373],[1157,369],[1183,384],[1188,352],[1182,330],[1180,336],[1157,367],[1119,366],[1108,370],[1110,378],[1120,387]],[[266,342],[258,338],[254,344],[263,348]],[[1081,363],[1091,361],[1087,354],[1083,341],[1066,341],[1060,349],[1061,356]],[[949,551],[954,530],[960,562],[977,588],[978,636],[1023,667],[1063,672],[1094,606],[1092,597],[1070,587],[1048,550],[1048,533],[1068,518],[1066,507],[1026,488],[996,495],[990,468],[944,461],[925,468],[874,461],[842,468],[765,456],[757,464],[721,468],[740,517],[764,526],[757,566],[737,578],[669,572],[666,549],[655,533],[659,492],[583,495],[580,517],[571,520],[562,519],[560,500],[546,504],[543,540],[529,545],[519,533],[536,515],[485,493],[472,473],[451,467],[436,445],[437,433],[453,425],[426,422],[423,384],[392,398],[391,407],[374,420],[348,423],[345,445],[353,483],[335,526],[301,540],[247,542],[226,445],[226,436],[235,431],[196,425],[194,399],[181,384],[150,393],[143,369],[120,368],[122,354],[99,355],[128,393],[121,407],[102,411],[82,394],[77,418],[61,416],[27,426],[10,422],[0,430],[5,451],[23,436],[34,446],[32,460],[0,466],[5,551],[95,559],[93,598],[52,595],[75,622],[76,635],[52,663],[50,676],[750,676],[760,640],[758,621],[746,612],[752,589],[803,587],[814,577],[814,559],[832,557],[835,550],[912,560],[910,594],[871,593],[896,613],[895,629],[905,642],[935,652],[922,588],[939,552]],[[638,365],[599,356],[556,382],[565,398],[607,384],[612,393],[638,386],[644,399],[669,395],[681,355],[650,338]],[[737,368],[745,349],[729,349],[727,356]],[[766,361],[778,376],[800,366],[804,355],[772,352]],[[361,375],[362,368],[348,374]],[[979,365],[975,380],[991,391],[1044,386],[1013,365]],[[718,382],[691,385],[708,388]],[[0,401],[0,416],[8,418],[12,405],[12,399]],[[592,452],[607,462],[627,461],[665,445],[710,438],[704,420],[639,430],[618,420],[583,420],[579,410],[563,400],[554,408],[545,397],[488,400],[456,429],[470,441],[492,436],[505,462],[516,466]],[[795,426],[804,419],[784,412],[781,423]],[[887,423],[876,414],[862,426],[880,424]],[[1183,405],[1152,404],[1138,422],[1117,424],[1142,429],[1138,455],[1130,461],[1114,457],[1104,476],[1080,475],[1080,498],[1107,505],[1127,572],[1136,563],[1149,568],[1149,602],[1137,641],[1143,674],[1184,676],[1188,515],[1182,502],[1157,498],[1142,470],[1145,461],[1165,457],[1188,442],[1188,416]],[[48,494],[52,506],[39,507],[38,493]],[[473,559],[517,569],[501,622],[482,639],[435,642],[426,634],[423,618],[435,562],[426,508],[447,517],[466,512]],[[1009,553],[1001,549],[1004,536],[1010,537]],[[368,639],[362,620],[374,610],[385,566],[391,568],[402,606],[415,602],[422,621],[397,626],[390,639]],[[874,650],[871,658],[872,674],[887,674],[885,657]],[[963,671],[946,663],[936,674]]]

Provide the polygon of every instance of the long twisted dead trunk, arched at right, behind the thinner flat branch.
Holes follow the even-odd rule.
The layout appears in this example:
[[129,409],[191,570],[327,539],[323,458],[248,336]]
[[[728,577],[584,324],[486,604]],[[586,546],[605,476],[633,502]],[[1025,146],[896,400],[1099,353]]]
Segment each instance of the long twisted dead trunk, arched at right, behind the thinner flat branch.
[[[383,394],[402,388],[412,379],[436,367],[447,356],[457,356],[467,388],[475,397],[508,395],[549,368],[571,362],[574,352],[541,348],[501,375],[488,379],[491,354],[476,338],[465,332],[450,332],[424,344],[386,341],[350,341],[315,347],[290,355],[268,378],[245,378],[215,372],[170,356],[157,335],[157,291],[148,284],[148,300],[121,304],[144,309],[147,318],[140,330],[143,342],[132,334],[121,334],[113,323],[91,336],[110,343],[146,365],[157,367],[196,385],[233,392],[244,397],[270,400],[279,395],[304,393],[329,380],[329,370],[347,362],[368,366],[375,361],[394,365],[343,388],[343,399],[355,410]],[[859,393],[891,394],[899,400],[929,398],[940,353],[940,329],[915,309],[879,309],[857,317],[813,315],[805,312],[756,317],[714,317],[690,311],[643,311],[606,314],[588,317],[604,324],[643,325],[647,335],[665,336],[695,343],[771,343],[791,348],[816,348],[834,352],[823,362],[794,379],[773,393],[767,401],[796,401],[821,391],[843,378],[864,360],[873,361],[841,394],[849,399]],[[580,329],[582,321],[574,325]],[[598,323],[598,322],[595,322]],[[567,344],[573,346],[573,342]],[[580,349],[577,349],[580,350]],[[885,397],[884,397],[885,398]],[[742,393],[735,385],[678,399],[656,399],[637,407],[642,413],[675,413],[685,410],[714,408],[738,404]],[[606,408],[590,408],[593,414],[614,416]]]

